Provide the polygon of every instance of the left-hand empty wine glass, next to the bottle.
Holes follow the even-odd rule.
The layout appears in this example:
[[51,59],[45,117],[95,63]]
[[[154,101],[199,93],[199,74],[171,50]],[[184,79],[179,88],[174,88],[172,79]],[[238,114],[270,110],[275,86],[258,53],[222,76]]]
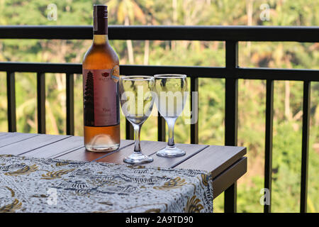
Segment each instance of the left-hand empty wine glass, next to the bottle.
[[140,149],[140,128],[150,116],[154,104],[155,79],[150,76],[123,76],[119,84],[121,108],[126,119],[134,128],[135,145],[133,154],[124,158],[130,164],[152,162]]

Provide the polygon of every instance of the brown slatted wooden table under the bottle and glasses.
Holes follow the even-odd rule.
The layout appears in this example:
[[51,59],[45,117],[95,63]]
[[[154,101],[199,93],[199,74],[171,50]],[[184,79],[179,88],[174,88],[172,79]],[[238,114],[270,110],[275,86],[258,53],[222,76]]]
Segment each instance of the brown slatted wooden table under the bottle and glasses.
[[[83,137],[80,136],[0,133],[0,155],[123,163],[123,157],[133,152],[133,143],[133,140],[121,140],[121,147],[116,152],[91,153],[85,150]],[[213,175],[214,198],[247,172],[247,157],[243,157],[246,148],[177,144],[177,147],[186,151],[186,155],[157,157],[156,151],[165,145],[165,142],[142,141],[142,152],[154,158],[154,162],[145,165],[210,171]]]

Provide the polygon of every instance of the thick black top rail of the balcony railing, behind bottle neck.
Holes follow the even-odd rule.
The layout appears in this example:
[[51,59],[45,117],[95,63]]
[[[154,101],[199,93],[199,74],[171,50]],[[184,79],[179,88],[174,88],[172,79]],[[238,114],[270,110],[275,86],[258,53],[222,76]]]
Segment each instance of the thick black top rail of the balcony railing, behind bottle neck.
[[[0,26],[0,38],[92,39],[92,26]],[[318,27],[108,26],[113,40],[235,40],[318,42]]]

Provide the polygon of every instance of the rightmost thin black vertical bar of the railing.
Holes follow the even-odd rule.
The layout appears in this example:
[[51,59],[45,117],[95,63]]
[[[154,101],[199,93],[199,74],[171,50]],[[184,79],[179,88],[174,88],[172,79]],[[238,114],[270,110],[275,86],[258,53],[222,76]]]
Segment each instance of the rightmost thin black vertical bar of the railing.
[[309,121],[310,121],[310,81],[303,82],[303,137],[301,155],[301,213],[307,212],[308,197],[308,153],[309,153]]

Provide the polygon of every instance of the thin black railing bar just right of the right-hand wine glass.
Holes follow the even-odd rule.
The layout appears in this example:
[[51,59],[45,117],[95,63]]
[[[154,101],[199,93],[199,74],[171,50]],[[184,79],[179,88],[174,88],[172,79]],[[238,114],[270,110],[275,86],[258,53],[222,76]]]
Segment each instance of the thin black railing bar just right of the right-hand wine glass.
[[191,143],[198,144],[198,77],[191,77],[191,118],[195,121],[191,123]]

